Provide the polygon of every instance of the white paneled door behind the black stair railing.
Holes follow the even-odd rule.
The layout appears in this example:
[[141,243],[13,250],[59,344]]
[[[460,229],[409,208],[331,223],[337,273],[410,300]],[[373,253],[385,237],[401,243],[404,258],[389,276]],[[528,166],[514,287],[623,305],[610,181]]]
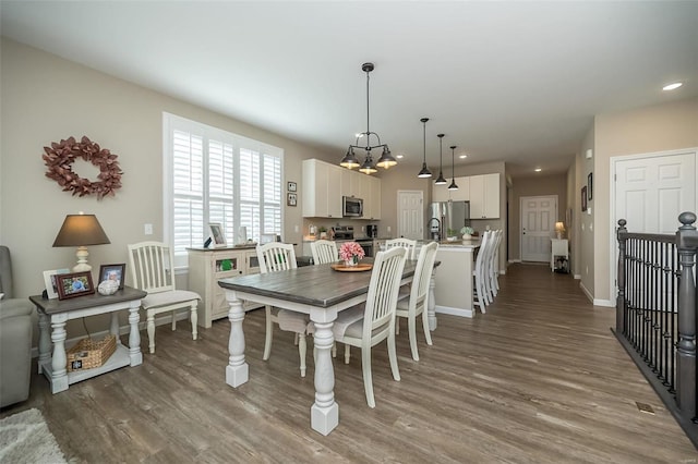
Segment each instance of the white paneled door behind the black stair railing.
[[678,215],[696,211],[696,149],[611,159],[613,205],[611,229],[612,301],[617,294],[618,219],[629,232],[674,234]]

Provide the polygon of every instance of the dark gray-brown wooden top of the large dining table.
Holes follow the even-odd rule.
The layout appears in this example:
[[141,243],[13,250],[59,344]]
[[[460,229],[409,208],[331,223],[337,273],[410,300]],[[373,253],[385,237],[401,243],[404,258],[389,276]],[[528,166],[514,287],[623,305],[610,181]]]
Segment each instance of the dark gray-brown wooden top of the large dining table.
[[[365,258],[365,261],[372,261]],[[363,261],[362,261],[363,262]],[[417,260],[405,264],[402,278],[412,277]],[[279,272],[221,279],[224,289],[286,300],[317,307],[329,307],[369,291],[372,271],[339,272],[329,264],[304,266]]]

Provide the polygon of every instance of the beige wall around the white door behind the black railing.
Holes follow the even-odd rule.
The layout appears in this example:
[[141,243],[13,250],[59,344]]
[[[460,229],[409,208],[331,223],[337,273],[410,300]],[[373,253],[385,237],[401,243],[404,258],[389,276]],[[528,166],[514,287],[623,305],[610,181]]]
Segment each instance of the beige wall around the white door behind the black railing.
[[599,114],[593,131],[593,295],[612,302],[609,256],[618,218],[611,218],[611,158],[698,147],[698,98]]

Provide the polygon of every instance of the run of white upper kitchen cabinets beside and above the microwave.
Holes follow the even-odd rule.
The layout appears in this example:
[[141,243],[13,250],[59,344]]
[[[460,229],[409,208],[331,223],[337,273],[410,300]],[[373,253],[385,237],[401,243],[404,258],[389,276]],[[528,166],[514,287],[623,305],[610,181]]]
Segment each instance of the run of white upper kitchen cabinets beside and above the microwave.
[[[341,218],[341,197],[363,199],[361,219],[381,219],[381,180],[317,159],[303,160],[304,218]],[[359,218],[357,218],[359,219]]]

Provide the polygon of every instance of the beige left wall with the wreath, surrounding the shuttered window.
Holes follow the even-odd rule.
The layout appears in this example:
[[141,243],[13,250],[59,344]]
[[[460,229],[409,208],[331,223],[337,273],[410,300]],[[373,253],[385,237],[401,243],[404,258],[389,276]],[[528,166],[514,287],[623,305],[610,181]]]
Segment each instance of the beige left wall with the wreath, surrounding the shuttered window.
[[[163,239],[163,111],[282,148],[285,180],[300,183],[301,159],[333,155],[4,38],[0,64],[0,243],[11,249],[21,297],[41,293],[44,270],[74,265],[75,249],[51,247],[65,215],[95,213],[111,240],[89,247],[95,272],[99,264],[125,262],[127,244]],[[116,197],[74,197],[44,175],[43,147],[71,135],[118,155],[124,174]],[[96,178],[91,164],[74,167]],[[144,235],[145,223],[154,235]],[[301,208],[287,207],[285,239],[300,243],[301,224]]]

